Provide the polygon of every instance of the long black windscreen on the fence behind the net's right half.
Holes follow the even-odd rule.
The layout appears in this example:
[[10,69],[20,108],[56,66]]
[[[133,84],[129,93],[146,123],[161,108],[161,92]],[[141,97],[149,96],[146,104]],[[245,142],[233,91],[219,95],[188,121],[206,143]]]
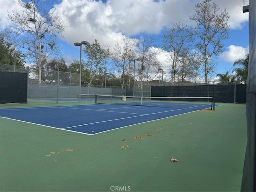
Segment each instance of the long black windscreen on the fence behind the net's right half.
[[246,84],[154,86],[152,97],[215,97],[215,102],[246,103]]

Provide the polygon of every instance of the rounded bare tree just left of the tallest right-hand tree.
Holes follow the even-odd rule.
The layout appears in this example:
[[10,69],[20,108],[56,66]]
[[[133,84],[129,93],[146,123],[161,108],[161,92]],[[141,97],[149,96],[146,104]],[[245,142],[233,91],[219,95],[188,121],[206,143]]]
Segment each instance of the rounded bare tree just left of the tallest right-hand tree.
[[[182,70],[177,67],[183,66],[178,62],[182,60],[183,64],[188,60],[188,53],[194,44],[194,30],[192,27],[189,27],[180,23],[173,23],[173,27],[168,30],[167,34],[162,35],[163,48],[169,53],[169,61],[172,62],[170,66],[171,70],[171,83],[174,85],[176,72]],[[183,58],[182,58],[183,57]],[[187,67],[191,66],[194,68],[192,63]]]

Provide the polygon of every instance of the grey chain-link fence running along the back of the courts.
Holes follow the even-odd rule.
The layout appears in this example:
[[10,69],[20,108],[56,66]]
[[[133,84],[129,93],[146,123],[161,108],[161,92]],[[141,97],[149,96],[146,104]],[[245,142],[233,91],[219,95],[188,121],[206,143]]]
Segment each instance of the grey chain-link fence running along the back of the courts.
[[[41,82],[39,83],[39,70],[34,66],[14,66],[0,64],[0,71],[21,72],[28,74],[28,98],[78,98],[80,92],[80,74],[71,72],[58,72],[55,70],[41,70]],[[246,80],[236,81],[212,81],[208,85],[235,85],[246,84]],[[206,85],[204,82],[175,82],[174,86]],[[144,82],[143,88],[133,90],[133,87],[100,86],[81,84],[81,94],[95,95],[126,95],[126,96],[151,96],[152,86],[172,86],[169,82]]]

